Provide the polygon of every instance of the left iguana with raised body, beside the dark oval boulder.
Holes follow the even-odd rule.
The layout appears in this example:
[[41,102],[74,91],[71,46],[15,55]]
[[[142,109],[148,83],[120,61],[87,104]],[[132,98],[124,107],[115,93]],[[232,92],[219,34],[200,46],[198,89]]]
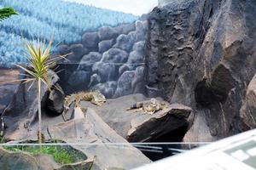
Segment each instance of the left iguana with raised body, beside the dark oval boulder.
[[81,100],[90,101],[92,104],[98,106],[103,105],[107,101],[105,96],[99,91],[79,92],[76,94],[71,94],[67,96],[67,98],[65,98],[64,111],[62,113],[64,121],[67,121],[67,119],[65,118],[65,114],[69,109],[69,106],[74,103],[75,107],[80,107]]

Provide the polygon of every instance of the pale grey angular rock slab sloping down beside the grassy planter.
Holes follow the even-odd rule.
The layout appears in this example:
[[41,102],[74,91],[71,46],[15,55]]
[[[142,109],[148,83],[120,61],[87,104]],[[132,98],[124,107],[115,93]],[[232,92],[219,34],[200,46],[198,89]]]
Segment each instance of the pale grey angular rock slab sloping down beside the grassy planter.
[[[75,144],[72,145],[73,148],[86,153],[86,156],[96,156],[92,169],[103,170],[108,169],[108,167],[132,169],[150,162],[141,151],[115,133],[89,107],[86,118],[56,124],[49,127],[48,131],[54,139]],[[118,143],[119,147],[114,147],[113,144],[109,150],[109,143]],[[122,147],[122,144],[125,147]]]

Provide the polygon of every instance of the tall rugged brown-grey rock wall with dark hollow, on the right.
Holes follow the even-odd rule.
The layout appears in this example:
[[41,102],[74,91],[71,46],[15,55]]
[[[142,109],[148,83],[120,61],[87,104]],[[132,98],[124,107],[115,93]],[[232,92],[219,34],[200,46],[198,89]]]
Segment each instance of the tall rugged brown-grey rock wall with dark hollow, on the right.
[[149,14],[147,94],[193,108],[184,141],[255,127],[247,109],[254,105],[247,85],[256,71],[255,14],[254,0],[173,1]]

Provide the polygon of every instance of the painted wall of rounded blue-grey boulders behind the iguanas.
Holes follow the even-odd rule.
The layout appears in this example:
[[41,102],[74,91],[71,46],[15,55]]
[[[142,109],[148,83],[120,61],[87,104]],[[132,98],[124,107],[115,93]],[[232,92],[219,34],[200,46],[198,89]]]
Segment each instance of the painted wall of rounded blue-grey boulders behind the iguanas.
[[100,90],[107,98],[143,93],[144,44],[147,20],[117,27],[102,26],[85,32],[81,42],[60,45],[60,54],[70,54],[60,64],[61,87],[67,94]]

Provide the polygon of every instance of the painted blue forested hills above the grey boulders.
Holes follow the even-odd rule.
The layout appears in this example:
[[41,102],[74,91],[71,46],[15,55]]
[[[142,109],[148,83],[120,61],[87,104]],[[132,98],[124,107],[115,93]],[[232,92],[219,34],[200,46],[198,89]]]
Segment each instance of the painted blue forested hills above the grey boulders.
[[0,65],[25,63],[24,41],[54,37],[56,43],[81,40],[84,31],[101,26],[119,26],[137,20],[137,16],[61,0],[2,0],[0,8],[18,11],[0,23]]

